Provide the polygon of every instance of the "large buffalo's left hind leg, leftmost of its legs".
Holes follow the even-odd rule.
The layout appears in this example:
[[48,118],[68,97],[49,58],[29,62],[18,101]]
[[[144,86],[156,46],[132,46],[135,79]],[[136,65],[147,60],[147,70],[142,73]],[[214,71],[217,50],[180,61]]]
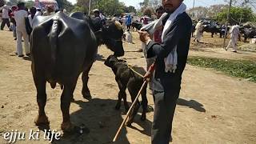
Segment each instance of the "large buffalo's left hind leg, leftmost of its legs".
[[46,116],[46,78],[43,74],[35,73],[33,71],[34,84],[37,89],[37,102],[38,102],[38,117],[35,119],[35,125],[48,125],[49,121]]

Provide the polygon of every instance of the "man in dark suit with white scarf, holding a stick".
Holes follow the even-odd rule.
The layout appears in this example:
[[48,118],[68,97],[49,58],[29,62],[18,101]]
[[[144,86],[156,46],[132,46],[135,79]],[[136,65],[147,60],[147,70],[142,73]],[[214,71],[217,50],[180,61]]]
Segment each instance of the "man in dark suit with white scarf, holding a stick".
[[[153,92],[152,144],[168,144],[171,140],[174,110],[186,66],[192,27],[183,0],[162,0],[162,6],[166,11],[162,14],[162,43],[152,41],[146,31],[138,31],[141,41],[146,43],[146,57],[156,56],[154,79],[159,89]],[[151,66],[144,78],[150,78],[152,70]]]

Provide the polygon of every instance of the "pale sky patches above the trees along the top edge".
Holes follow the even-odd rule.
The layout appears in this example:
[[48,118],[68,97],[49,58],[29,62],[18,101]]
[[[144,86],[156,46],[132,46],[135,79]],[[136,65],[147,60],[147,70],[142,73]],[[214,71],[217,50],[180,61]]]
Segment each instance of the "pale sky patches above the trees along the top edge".
[[[76,0],[68,0],[72,2],[73,4],[76,2]],[[135,8],[138,8],[139,2],[143,2],[143,0],[119,0],[119,2],[124,2],[126,6],[134,6]],[[193,7],[193,0],[184,0],[184,3],[188,7],[188,9]],[[225,4],[224,0],[195,0],[194,6],[210,6],[210,5],[216,5],[216,4]]]

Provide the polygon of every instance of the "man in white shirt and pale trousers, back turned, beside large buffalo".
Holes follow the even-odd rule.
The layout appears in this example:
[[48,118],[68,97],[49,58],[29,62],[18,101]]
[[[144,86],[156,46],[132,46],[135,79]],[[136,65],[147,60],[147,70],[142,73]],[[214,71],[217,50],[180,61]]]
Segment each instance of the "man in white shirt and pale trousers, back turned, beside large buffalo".
[[23,57],[22,37],[24,38],[26,55],[28,55],[28,56],[30,55],[29,35],[26,33],[25,18],[27,18],[27,11],[25,10],[25,3],[18,2],[18,11],[16,11],[14,13],[14,19],[16,22],[18,57]]

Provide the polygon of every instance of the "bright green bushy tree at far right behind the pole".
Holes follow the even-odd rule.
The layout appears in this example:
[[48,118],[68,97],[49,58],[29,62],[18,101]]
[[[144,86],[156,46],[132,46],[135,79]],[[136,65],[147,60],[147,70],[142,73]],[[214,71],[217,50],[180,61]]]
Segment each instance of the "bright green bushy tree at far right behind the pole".
[[[221,13],[218,13],[215,17],[219,22],[226,22],[227,17],[227,9],[222,10]],[[254,22],[254,14],[250,7],[231,7],[230,9],[230,19],[229,23],[234,25],[234,23],[241,22]]]

